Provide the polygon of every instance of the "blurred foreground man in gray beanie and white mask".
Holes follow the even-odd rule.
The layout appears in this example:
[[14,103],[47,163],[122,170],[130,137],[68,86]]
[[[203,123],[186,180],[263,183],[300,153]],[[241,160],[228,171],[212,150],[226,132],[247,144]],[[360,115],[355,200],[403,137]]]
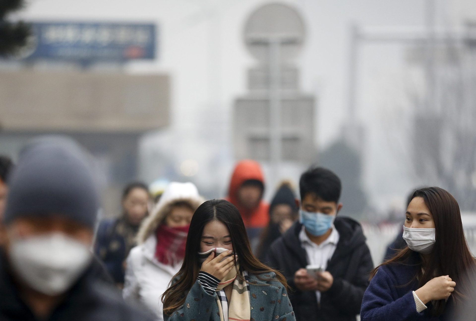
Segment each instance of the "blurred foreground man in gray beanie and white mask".
[[150,320],[98,278],[98,206],[79,146],[45,138],[23,151],[0,231],[0,320]]

